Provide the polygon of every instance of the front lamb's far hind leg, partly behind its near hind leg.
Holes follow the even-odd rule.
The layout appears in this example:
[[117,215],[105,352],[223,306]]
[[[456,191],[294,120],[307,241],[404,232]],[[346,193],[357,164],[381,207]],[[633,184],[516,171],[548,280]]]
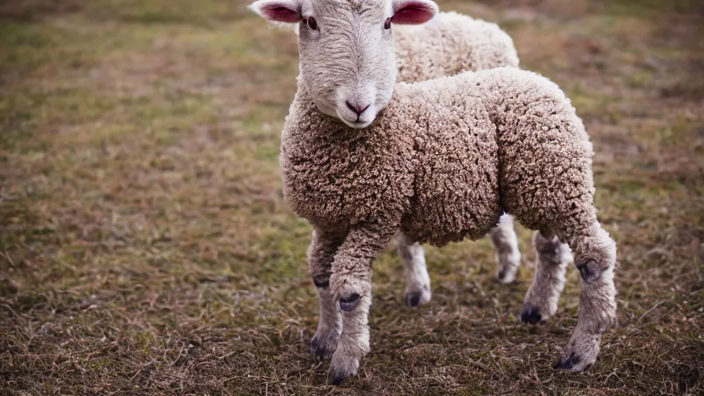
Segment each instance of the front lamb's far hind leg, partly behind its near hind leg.
[[565,271],[572,261],[570,247],[550,233],[533,235],[536,268],[533,283],[526,294],[521,312],[524,323],[538,323],[558,310],[560,293],[565,288]]

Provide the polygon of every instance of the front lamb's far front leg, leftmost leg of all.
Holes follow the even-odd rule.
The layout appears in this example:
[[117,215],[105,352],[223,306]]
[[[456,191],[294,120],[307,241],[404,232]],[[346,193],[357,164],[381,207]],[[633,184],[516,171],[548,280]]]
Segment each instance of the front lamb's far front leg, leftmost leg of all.
[[310,353],[322,358],[332,357],[342,332],[342,316],[339,304],[330,292],[332,259],[344,241],[345,233],[313,231],[313,241],[308,248],[308,267],[320,299],[318,331],[310,341]]

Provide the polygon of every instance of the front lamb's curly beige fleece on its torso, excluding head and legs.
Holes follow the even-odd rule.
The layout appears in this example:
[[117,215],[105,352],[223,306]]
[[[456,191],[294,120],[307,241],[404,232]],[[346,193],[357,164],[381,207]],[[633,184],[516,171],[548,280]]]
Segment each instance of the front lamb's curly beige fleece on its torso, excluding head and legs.
[[502,210],[569,240],[596,222],[593,151],[553,82],[516,68],[398,83],[364,130],[298,92],[282,133],[284,195],[318,228],[387,219],[418,242],[477,239]]

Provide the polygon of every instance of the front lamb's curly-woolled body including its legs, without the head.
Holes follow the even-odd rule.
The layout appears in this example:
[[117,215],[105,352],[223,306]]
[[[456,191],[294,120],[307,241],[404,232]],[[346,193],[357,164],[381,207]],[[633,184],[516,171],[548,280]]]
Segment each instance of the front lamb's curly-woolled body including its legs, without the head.
[[[321,263],[311,273],[321,316],[312,346],[323,355],[337,348],[334,382],[356,373],[369,350],[368,264],[396,230],[435,245],[477,239],[502,210],[539,230],[522,318],[554,313],[571,259],[560,241],[568,242],[583,304],[558,367],[581,371],[596,360],[601,333],[615,323],[616,249],[593,207],[589,137],[557,85],[516,68],[398,83],[363,130],[322,115],[307,95],[299,85],[281,168],[288,202],[315,227],[309,257]],[[337,299],[351,311],[343,323],[330,308]]]

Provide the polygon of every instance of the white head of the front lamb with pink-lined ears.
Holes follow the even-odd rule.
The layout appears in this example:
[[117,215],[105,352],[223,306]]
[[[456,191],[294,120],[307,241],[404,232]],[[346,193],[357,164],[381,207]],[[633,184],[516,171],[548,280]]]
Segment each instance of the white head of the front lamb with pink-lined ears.
[[298,24],[301,82],[322,113],[365,128],[391,100],[393,28],[437,12],[432,0],[259,0],[260,16]]

